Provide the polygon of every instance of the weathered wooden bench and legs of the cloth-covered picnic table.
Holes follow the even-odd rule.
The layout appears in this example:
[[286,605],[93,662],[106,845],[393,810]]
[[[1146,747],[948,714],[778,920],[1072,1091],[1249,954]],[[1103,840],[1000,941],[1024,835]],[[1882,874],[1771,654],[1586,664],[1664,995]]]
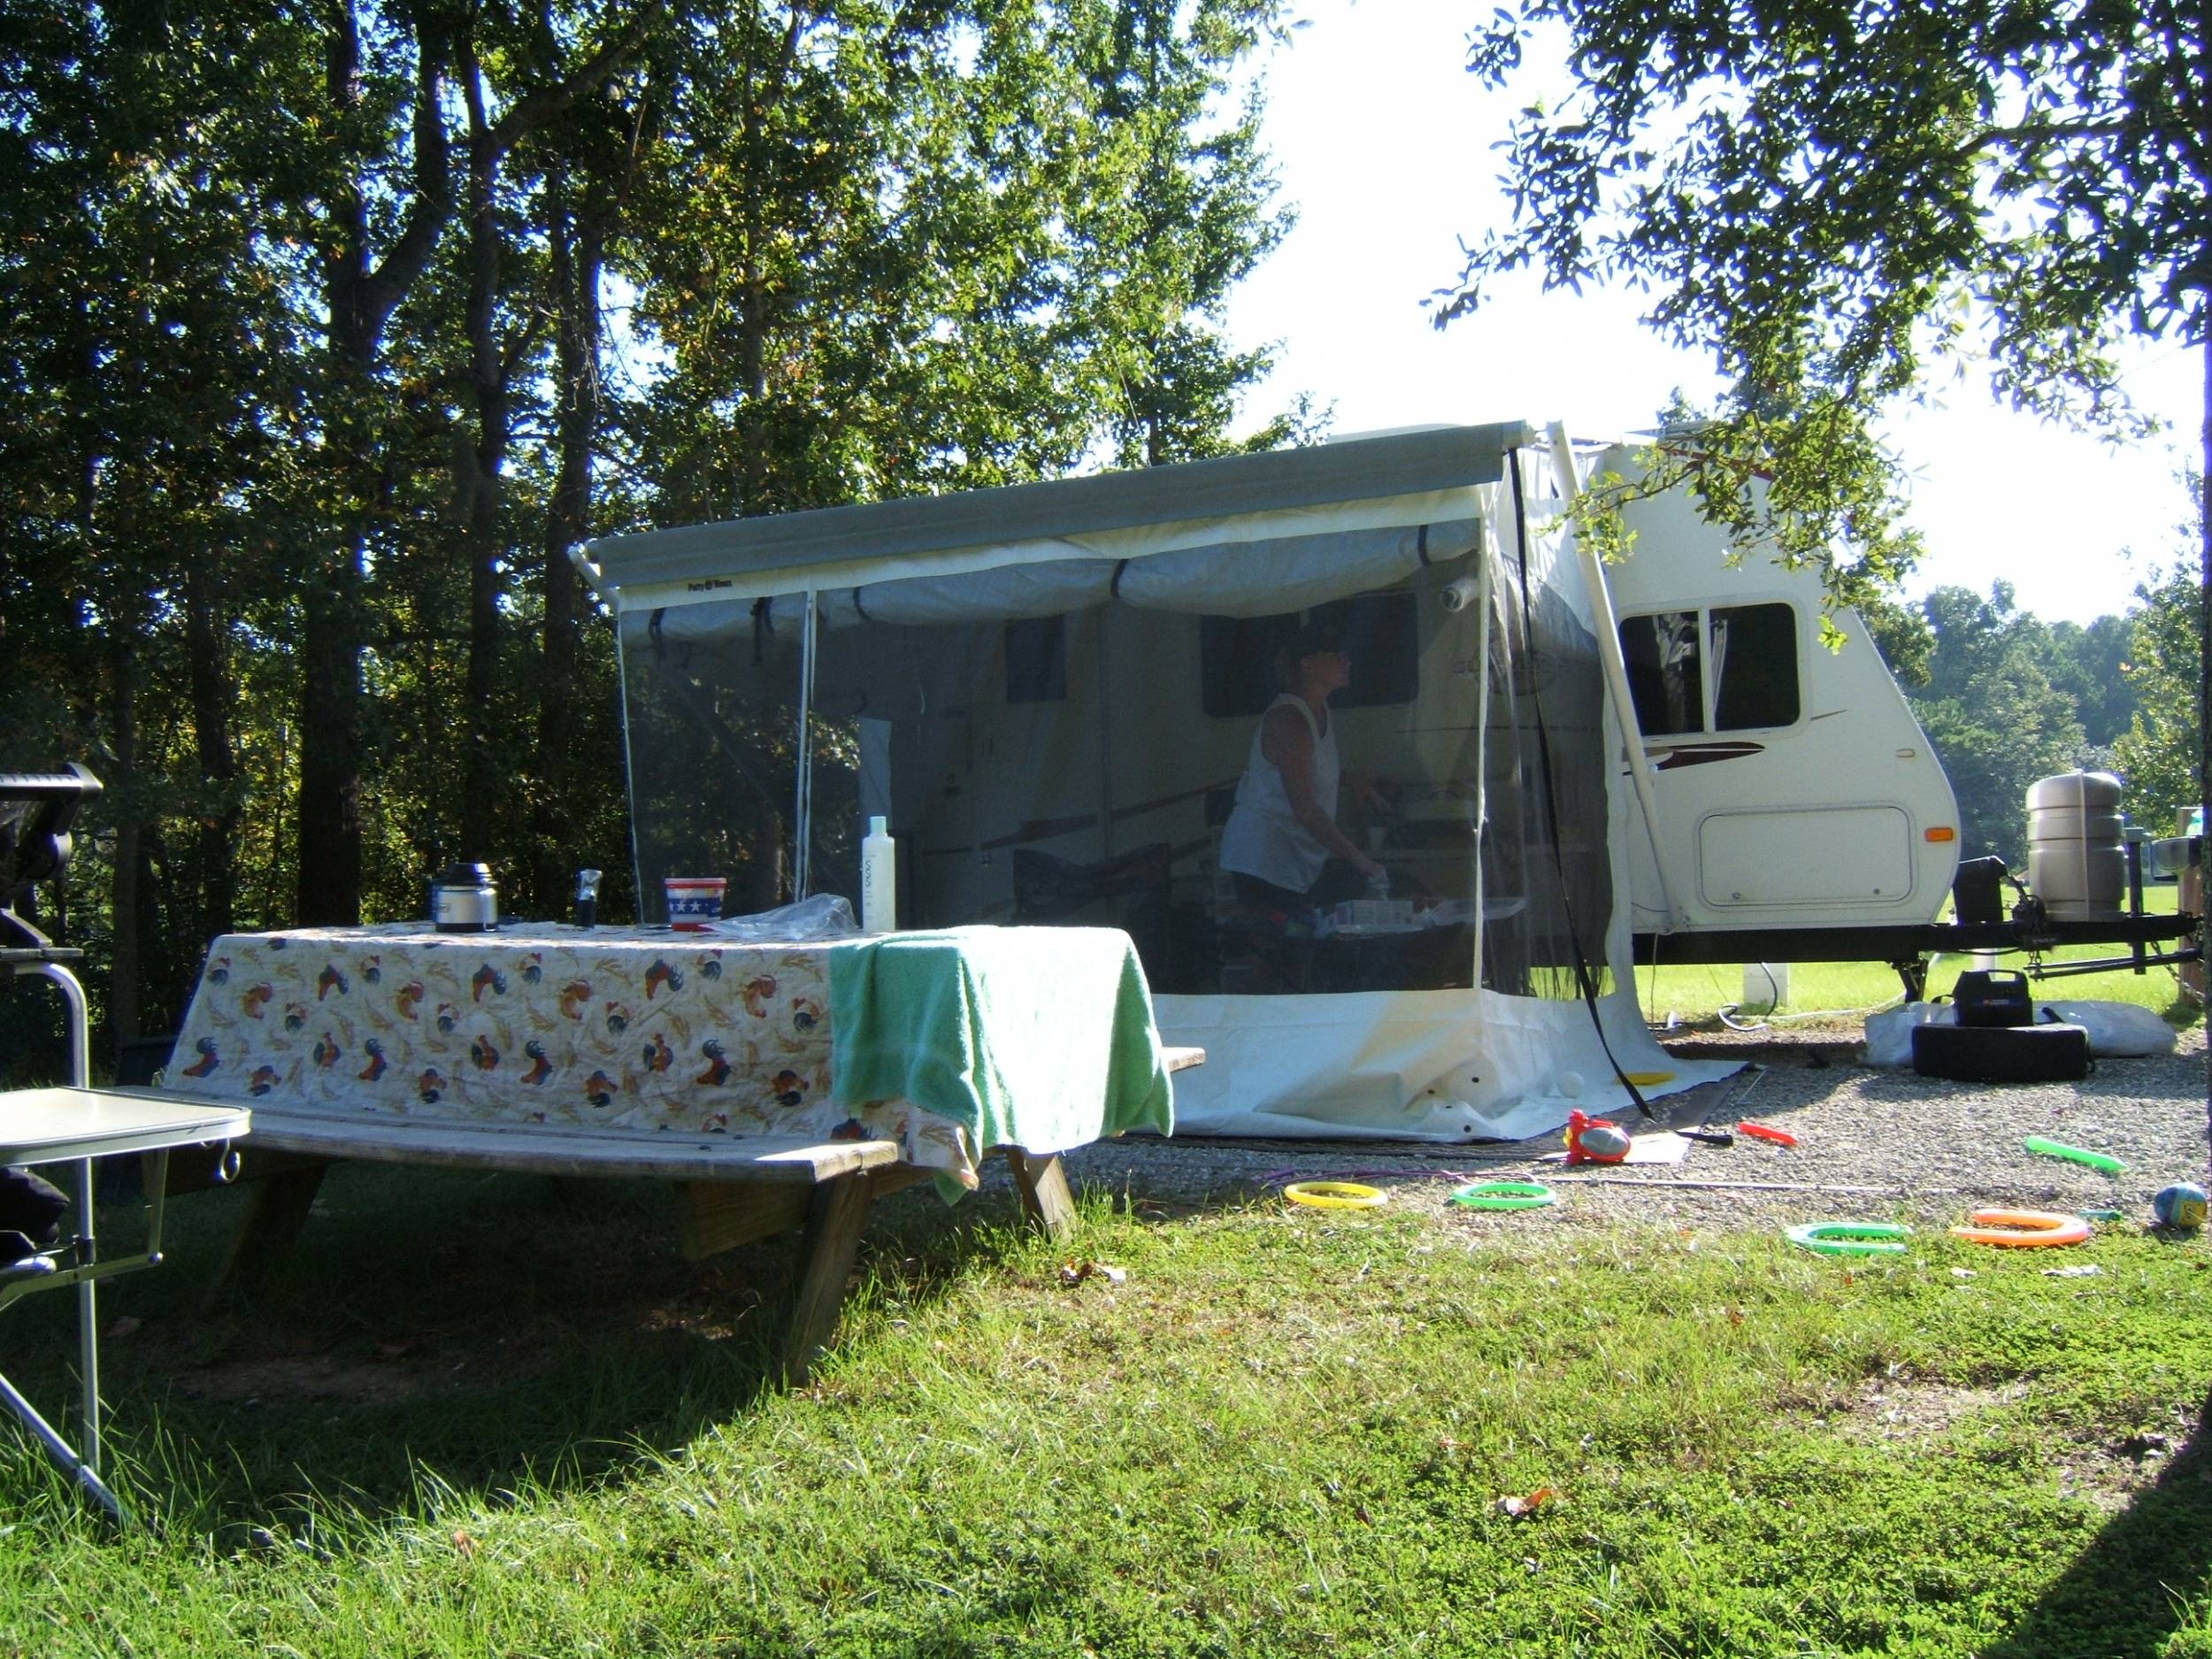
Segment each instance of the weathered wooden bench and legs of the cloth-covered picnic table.
[[[1168,1071],[1203,1064],[1203,1048],[1164,1048]],[[117,1091],[175,1102],[161,1091]],[[586,1130],[555,1124],[336,1115],[310,1104],[252,1099],[254,1133],[243,1148],[248,1214],[217,1285],[259,1287],[299,1237],[338,1161],[500,1170],[551,1177],[646,1177],[668,1181],[679,1203],[679,1248],[688,1259],[803,1228],[799,1292],[781,1343],[787,1383],[805,1383],[814,1356],[836,1334],[838,1310],[860,1250],[869,1206],[929,1170],[907,1164],[896,1141],[801,1141],[761,1135]],[[1022,1212],[1064,1237],[1075,1201],[1057,1155],[1004,1152]],[[170,1190],[199,1190],[210,1172],[173,1161]]]

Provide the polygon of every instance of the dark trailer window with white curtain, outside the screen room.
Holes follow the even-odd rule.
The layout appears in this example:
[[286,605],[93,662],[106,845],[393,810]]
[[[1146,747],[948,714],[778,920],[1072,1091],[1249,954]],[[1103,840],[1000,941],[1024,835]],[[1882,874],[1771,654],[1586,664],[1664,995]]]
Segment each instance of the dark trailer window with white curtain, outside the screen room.
[[1796,726],[1798,628],[1787,604],[1624,617],[1621,657],[1644,737]]

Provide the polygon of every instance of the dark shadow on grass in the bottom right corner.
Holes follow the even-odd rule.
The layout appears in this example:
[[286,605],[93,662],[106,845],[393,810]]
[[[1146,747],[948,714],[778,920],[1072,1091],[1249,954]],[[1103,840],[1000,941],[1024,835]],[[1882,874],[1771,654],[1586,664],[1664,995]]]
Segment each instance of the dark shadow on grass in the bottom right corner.
[[2073,1566],[1982,1659],[2157,1659],[2212,1571],[2212,1400],[2157,1482],[2099,1528]]

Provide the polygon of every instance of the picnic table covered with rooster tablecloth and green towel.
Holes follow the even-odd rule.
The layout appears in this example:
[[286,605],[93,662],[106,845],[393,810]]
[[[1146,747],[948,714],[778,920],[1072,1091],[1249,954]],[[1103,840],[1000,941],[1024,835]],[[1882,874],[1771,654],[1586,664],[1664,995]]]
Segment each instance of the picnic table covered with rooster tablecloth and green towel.
[[690,1256],[805,1225],[785,1340],[803,1378],[876,1197],[956,1197],[1004,1152],[1024,1210],[1062,1230],[1057,1155],[1168,1133],[1168,1071],[1199,1060],[1159,1046],[1113,929],[411,922],[215,940],[161,1091],[254,1113],[246,1175],[265,1179],[228,1276],[265,1272],[338,1159],[659,1177]]

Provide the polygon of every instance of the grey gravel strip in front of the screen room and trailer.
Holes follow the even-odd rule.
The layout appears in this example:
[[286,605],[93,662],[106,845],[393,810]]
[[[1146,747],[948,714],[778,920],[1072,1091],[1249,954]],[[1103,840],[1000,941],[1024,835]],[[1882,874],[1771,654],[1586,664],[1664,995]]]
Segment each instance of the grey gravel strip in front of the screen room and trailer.
[[[1360,1179],[1398,1208],[1482,1232],[1630,1223],[1750,1228],[1794,1221],[1962,1221],[1993,1203],[2037,1210],[2117,1208],[2150,1219],[2168,1181],[2205,1181],[2205,1035],[2177,1053],[2101,1060],[2079,1084],[1949,1084],[1858,1062],[1856,1031],[1670,1044],[1677,1053],[1741,1057],[1743,1071],[1657,1102],[1674,1128],[1732,1128],[1752,1117],[1796,1135],[1794,1148],[1736,1137],[1690,1146],[1679,1166],[1577,1168],[1559,1139],[1409,1148],[1398,1141],[1119,1139],[1066,1157],[1077,1186],[1126,1192],[1139,1208],[1274,1201],[1283,1181]],[[1630,1128],[1635,1128],[1630,1124]],[[2028,1135],[2110,1152],[2112,1177],[2026,1152]],[[995,1159],[993,1159],[995,1164]],[[1449,1203],[1482,1179],[1544,1179],[1551,1210],[1486,1214]],[[1004,1179],[1002,1175],[995,1179]],[[1637,1181],[1639,1186],[1628,1186]],[[1710,1186],[1692,1186],[1710,1183]],[[1765,1183],[1765,1186],[1763,1186]],[[1874,1188],[1869,1192],[1803,1188]]]

